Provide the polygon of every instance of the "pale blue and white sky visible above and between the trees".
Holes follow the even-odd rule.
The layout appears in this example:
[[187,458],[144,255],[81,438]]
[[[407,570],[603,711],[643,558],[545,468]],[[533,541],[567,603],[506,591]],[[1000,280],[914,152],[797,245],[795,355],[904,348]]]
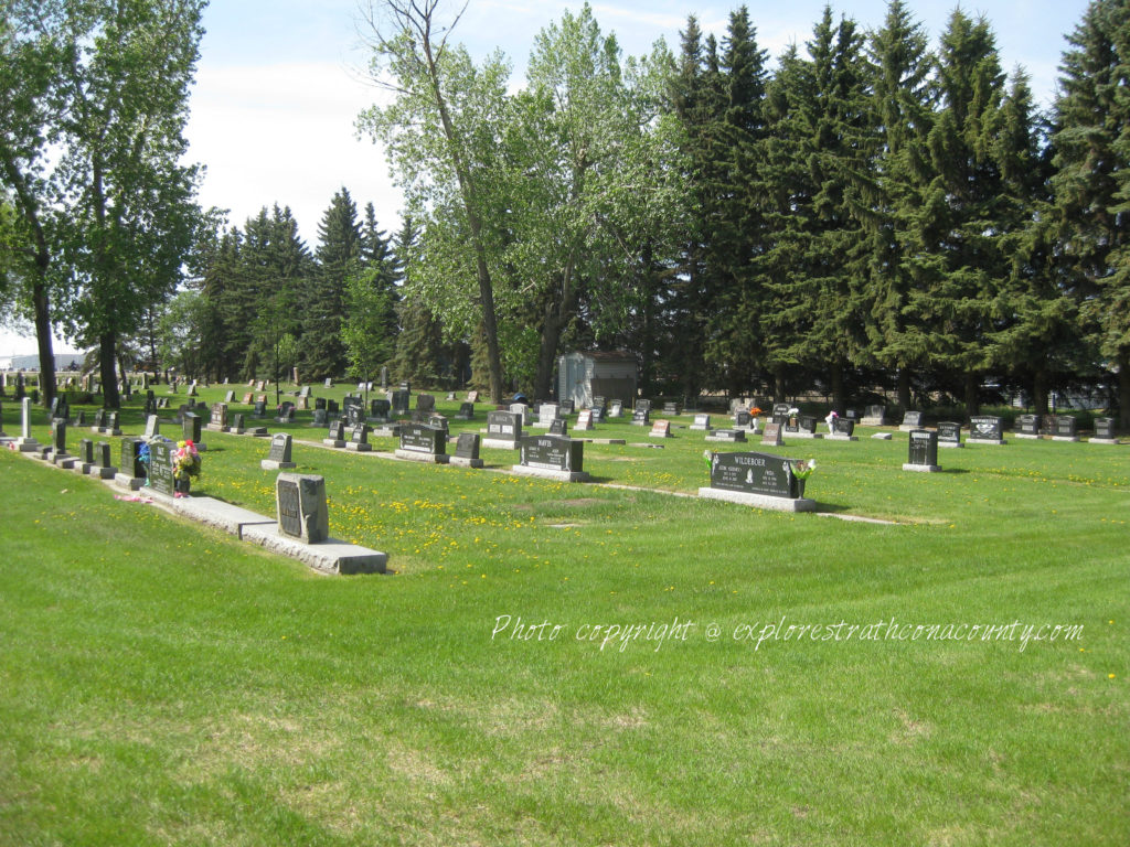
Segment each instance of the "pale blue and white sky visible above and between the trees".
[[[380,147],[358,138],[357,115],[384,96],[366,79],[370,52],[358,8],[368,0],[211,0],[205,11],[191,117],[189,160],[207,167],[199,200],[228,210],[243,227],[264,206],[289,207],[307,246],[333,194],[349,190],[358,209],[372,202],[390,234],[399,226],[400,195]],[[462,0],[446,8],[458,9]],[[758,45],[772,60],[790,44],[803,47],[825,0],[747,2]],[[534,36],[558,20],[572,0],[469,0],[452,37],[481,59],[495,49],[511,60],[520,86]],[[695,15],[699,27],[724,36],[737,0],[616,0],[592,2],[597,21],[614,32],[625,55],[642,55],[663,38],[678,51],[679,32]],[[907,0],[931,46],[956,3]],[[1086,0],[980,0],[962,5],[997,35],[1002,68],[1023,66],[1049,105],[1064,36],[1083,19]],[[836,19],[879,28],[886,0],[832,3]],[[63,342],[60,349],[71,350]],[[0,358],[35,352],[31,335],[0,331]]]

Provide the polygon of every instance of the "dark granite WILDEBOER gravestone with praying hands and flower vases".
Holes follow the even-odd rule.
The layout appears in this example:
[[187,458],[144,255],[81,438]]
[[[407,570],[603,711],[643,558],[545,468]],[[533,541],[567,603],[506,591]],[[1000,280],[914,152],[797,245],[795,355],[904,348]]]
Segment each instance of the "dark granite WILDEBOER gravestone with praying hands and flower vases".
[[801,480],[792,472],[794,460],[771,453],[712,453],[710,487],[698,496],[732,500],[786,512],[812,512]]

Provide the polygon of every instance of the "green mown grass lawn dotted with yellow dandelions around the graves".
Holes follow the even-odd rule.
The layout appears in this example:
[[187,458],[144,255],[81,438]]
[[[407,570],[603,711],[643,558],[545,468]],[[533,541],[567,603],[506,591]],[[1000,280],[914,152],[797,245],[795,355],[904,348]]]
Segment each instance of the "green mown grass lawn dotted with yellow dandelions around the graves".
[[[296,443],[365,577],[3,451],[0,844],[1130,842],[1130,447],[918,474],[871,431],[777,452],[888,523],[667,494],[706,480],[686,428],[599,426],[629,444],[586,470],[633,488]],[[205,440],[193,492],[271,514],[268,442]]]

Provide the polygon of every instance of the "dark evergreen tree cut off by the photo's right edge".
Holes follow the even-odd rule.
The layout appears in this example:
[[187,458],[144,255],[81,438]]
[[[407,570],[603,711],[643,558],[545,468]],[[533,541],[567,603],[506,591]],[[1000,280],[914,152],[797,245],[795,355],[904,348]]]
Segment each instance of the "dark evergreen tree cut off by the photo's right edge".
[[1060,66],[1052,147],[1062,285],[1118,374],[1130,427],[1130,3],[1093,0]]

